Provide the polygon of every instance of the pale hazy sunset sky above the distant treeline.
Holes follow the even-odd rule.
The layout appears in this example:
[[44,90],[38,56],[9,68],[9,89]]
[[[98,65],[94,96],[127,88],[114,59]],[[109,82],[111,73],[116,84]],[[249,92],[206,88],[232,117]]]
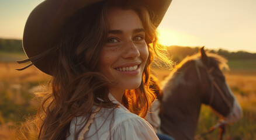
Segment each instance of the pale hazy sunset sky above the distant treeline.
[[[0,38],[22,39],[26,19],[43,0],[0,0]],[[173,0],[158,27],[165,45],[256,53],[256,0]]]

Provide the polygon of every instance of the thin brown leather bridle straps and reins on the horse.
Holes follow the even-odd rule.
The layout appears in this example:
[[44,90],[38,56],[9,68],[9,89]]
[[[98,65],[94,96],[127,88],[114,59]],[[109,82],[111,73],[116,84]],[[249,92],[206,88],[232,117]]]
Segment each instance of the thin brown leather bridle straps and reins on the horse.
[[[198,79],[199,79],[199,83],[202,83],[202,76],[200,74],[200,70],[199,70],[199,64],[198,62],[199,60],[195,61],[195,66],[196,66],[196,73],[198,74]],[[227,106],[231,107],[229,102],[227,101],[226,96],[224,95],[224,93],[222,92],[222,90],[220,89],[220,87],[217,85],[217,83],[215,82],[215,78],[212,76],[212,72],[213,72],[213,67],[208,69],[207,67],[203,66],[203,68],[206,69],[207,71],[207,77],[210,81],[210,86],[211,86],[211,92],[210,92],[210,101],[209,101],[209,105],[212,104],[213,102],[213,97],[214,97],[214,93],[213,93],[213,89],[217,89],[217,91],[220,93],[220,96],[222,96],[222,99],[224,100],[224,103],[226,103]],[[210,134],[211,132],[213,132],[216,128],[220,128],[220,135],[219,135],[219,139],[222,140],[223,138],[223,134],[224,134],[224,130],[225,130],[225,125],[227,124],[227,121],[224,120],[220,120],[219,122],[217,122],[216,125],[214,125],[213,127],[210,127],[209,130],[207,132],[204,132],[200,135],[196,135],[195,139],[199,139],[200,137]]]

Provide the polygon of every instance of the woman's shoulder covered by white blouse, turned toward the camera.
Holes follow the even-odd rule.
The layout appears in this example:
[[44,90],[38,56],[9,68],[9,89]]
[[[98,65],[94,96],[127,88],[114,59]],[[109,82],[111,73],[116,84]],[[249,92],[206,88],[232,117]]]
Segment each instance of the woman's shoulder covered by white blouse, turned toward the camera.
[[99,139],[158,139],[153,127],[146,120],[131,113],[124,106],[102,108],[95,115],[95,124],[91,125],[91,130],[99,127]]

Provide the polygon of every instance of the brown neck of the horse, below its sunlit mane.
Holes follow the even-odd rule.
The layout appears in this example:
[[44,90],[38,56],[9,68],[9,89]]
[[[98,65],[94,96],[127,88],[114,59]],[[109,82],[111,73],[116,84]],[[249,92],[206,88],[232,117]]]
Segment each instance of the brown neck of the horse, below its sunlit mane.
[[188,76],[191,75],[185,72],[174,74],[163,89],[161,129],[175,139],[193,139],[198,123],[201,106],[199,89],[197,80]]

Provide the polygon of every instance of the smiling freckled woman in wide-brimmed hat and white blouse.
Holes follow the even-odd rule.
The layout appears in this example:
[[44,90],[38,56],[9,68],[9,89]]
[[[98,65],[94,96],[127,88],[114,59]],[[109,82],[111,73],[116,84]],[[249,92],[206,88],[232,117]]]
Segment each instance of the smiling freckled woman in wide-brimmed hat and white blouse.
[[155,99],[154,56],[169,62],[155,28],[170,3],[46,0],[30,13],[29,59],[19,62],[52,76],[37,112],[39,139],[158,139],[141,117]]

